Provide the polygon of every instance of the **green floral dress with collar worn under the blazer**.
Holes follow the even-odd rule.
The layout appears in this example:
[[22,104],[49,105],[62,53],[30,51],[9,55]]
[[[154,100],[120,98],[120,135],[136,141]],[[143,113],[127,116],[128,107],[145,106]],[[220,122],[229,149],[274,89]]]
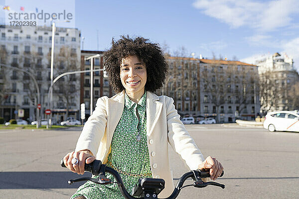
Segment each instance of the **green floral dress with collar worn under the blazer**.
[[[152,176],[147,145],[146,98],[145,92],[137,104],[125,94],[123,114],[114,131],[111,153],[106,164],[121,171],[119,173],[129,194],[140,176]],[[116,182],[111,174],[106,173],[106,176]],[[86,199],[124,199],[117,184],[98,185],[90,181],[80,186],[71,199],[78,196],[84,196]]]

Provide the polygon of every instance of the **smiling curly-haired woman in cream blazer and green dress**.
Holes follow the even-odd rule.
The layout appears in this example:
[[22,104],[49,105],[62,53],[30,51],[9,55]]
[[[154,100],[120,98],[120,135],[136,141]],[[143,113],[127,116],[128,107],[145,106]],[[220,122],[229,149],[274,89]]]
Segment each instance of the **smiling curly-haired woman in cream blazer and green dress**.
[[[132,190],[139,178],[161,178],[165,188],[160,198],[174,189],[168,159],[168,143],[190,170],[210,168],[215,180],[223,171],[215,158],[203,158],[189,136],[174,107],[172,98],[156,96],[167,75],[167,64],[157,44],[137,37],[112,40],[104,53],[105,69],[112,89],[118,93],[97,100],[93,114],[85,123],[75,151],[68,153],[64,164],[77,174],[84,164],[96,158],[117,170]],[[96,157],[94,156],[96,154]],[[78,161],[72,162],[76,158]],[[107,174],[107,178],[114,178]],[[121,199],[116,184],[87,182],[71,199]]]

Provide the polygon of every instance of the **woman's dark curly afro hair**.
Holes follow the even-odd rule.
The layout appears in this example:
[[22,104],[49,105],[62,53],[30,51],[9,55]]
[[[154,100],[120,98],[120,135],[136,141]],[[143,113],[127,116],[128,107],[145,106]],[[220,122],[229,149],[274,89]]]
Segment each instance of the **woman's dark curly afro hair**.
[[123,58],[136,55],[146,66],[147,83],[146,91],[155,92],[165,83],[168,65],[163,56],[163,52],[158,44],[150,43],[149,39],[136,37],[132,39],[121,36],[118,41],[112,39],[112,47],[104,52],[104,67],[108,73],[110,86],[116,93],[122,92],[125,88],[120,78],[120,65]]

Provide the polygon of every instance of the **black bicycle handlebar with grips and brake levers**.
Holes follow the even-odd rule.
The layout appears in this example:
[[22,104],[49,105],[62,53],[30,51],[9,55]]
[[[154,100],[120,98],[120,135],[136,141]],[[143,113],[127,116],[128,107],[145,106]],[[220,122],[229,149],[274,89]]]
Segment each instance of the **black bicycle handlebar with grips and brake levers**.
[[[65,167],[63,163],[63,160],[60,161],[60,165],[61,167]],[[95,178],[80,178],[80,179],[74,179],[74,180],[69,180],[68,183],[72,184],[74,182],[79,182],[79,181],[92,181],[94,183],[100,184],[100,185],[105,185],[105,184],[111,184],[113,182],[111,182],[110,179],[107,179],[105,176],[105,172],[110,173],[115,179],[116,179],[116,183],[119,187],[120,192],[122,193],[122,195],[126,198],[126,199],[144,199],[144,198],[136,198],[131,196],[128,191],[126,190],[124,183],[122,181],[121,176],[119,175],[119,173],[117,171],[115,171],[114,169],[112,169],[111,167],[106,166],[105,164],[102,164],[102,162],[100,160],[95,160],[94,162],[90,163],[90,164],[85,164],[84,165],[84,170],[87,172],[92,173],[93,175],[97,176],[99,175],[99,179],[95,179]],[[224,174],[224,172],[222,171],[222,174],[219,177],[222,177]],[[222,189],[225,188],[225,185],[216,183],[216,182],[203,182],[201,180],[201,178],[209,178],[210,177],[210,170],[209,169],[205,169],[205,170],[196,170],[196,171],[190,171],[185,173],[184,175],[182,175],[172,194],[166,198],[166,199],[175,199],[180,190],[186,186],[183,187],[184,182],[188,179],[188,178],[192,178],[194,180],[193,186],[197,187],[197,188],[203,188],[206,187],[208,185],[214,185],[214,186],[218,186],[221,187]],[[192,186],[192,185],[187,185],[187,186]]]

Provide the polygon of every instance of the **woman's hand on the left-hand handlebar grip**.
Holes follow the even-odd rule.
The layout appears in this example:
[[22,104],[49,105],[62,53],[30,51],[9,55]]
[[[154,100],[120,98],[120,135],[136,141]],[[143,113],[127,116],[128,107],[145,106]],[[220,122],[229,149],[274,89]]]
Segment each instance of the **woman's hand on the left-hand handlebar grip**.
[[[77,164],[72,164],[71,162],[73,158],[77,158],[79,162]],[[92,163],[95,159],[95,156],[91,155],[89,150],[78,152],[72,151],[63,157],[63,163],[72,172],[83,175],[85,163]]]

